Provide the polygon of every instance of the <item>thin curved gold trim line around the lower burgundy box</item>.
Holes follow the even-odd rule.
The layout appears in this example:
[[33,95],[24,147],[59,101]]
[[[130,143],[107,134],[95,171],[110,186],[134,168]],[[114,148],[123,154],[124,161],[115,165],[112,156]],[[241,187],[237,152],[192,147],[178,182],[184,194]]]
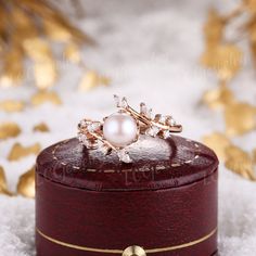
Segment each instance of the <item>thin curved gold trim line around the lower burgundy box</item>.
[[[112,248],[93,248],[93,247],[86,247],[86,246],[80,246],[80,245],[76,245],[76,244],[69,244],[69,243],[65,243],[62,242],[60,240],[55,240],[53,238],[48,236],[47,234],[42,233],[39,229],[37,229],[37,232],[44,238],[46,240],[65,246],[65,247],[69,247],[69,248],[74,248],[74,249],[79,249],[79,251],[86,251],[86,252],[93,252],[93,253],[104,253],[104,254],[123,254],[124,249],[112,249]],[[210,231],[208,234],[206,234],[205,236],[194,240],[192,242],[189,243],[184,243],[184,244],[178,244],[178,245],[172,245],[172,246],[167,246],[167,247],[162,247],[162,248],[144,248],[146,254],[154,254],[154,253],[162,253],[162,252],[170,252],[170,251],[175,251],[175,249],[179,249],[179,248],[185,248],[185,247],[190,247],[193,246],[195,244],[202,243],[204,241],[206,241],[207,239],[209,239],[210,236],[213,236],[215,233],[217,232],[217,228],[215,228],[213,231]]]

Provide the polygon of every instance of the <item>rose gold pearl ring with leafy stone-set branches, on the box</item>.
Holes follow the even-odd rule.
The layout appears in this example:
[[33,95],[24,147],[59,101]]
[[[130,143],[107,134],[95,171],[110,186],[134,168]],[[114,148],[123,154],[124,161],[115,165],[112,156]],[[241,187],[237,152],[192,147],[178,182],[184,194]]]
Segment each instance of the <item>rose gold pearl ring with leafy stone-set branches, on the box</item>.
[[167,139],[171,132],[181,132],[172,116],[153,115],[145,103],[140,104],[140,112],[129,106],[126,98],[114,95],[117,113],[95,121],[82,119],[78,124],[78,140],[88,149],[101,146],[105,155],[115,151],[124,163],[131,163],[126,146],[138,141],[140,135]]

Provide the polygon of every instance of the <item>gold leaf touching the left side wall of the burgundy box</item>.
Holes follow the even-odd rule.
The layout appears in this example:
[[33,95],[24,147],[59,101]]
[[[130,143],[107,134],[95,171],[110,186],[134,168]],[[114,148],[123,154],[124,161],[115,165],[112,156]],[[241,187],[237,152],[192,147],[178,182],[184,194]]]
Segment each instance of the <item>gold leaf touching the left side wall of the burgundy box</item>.
[[25,197],[35,199],[35,167],[20,177],[17,193]]

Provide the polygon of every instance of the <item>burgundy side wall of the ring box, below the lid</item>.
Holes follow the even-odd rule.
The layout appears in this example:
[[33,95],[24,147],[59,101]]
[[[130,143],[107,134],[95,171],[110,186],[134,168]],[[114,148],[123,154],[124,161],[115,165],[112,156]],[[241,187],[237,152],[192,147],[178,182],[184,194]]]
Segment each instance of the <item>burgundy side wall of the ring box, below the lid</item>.
[[38,168],[42,166],[36,175],[38,256],[121,255],[130,245],[153,256],[217,251],[217,168],[178,187],[163,182],[163,188],[142,190],[77,188]]

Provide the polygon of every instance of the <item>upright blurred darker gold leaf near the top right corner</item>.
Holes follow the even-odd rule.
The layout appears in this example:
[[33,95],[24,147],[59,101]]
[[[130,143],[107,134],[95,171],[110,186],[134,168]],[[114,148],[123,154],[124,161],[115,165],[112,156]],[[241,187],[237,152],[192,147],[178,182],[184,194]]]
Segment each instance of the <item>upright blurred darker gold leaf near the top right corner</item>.
[[208,20],[204,26],[204,35],[207,47],[218,44],[223,35],[225,18],[215,9],[208,13]]

